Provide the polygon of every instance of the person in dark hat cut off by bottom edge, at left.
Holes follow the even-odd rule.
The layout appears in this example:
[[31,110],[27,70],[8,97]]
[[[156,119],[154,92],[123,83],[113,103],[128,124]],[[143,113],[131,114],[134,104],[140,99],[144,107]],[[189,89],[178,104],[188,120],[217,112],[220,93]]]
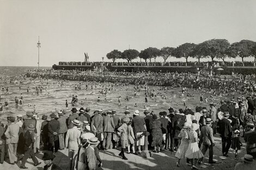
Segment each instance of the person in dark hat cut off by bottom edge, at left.
[[44,156],[42,156],[42,160],[45,163],[44,170],[62,170],[58,165],[53,163],[54,158],[55,155],[53,155],[52,151],[47,150],[44,152]]

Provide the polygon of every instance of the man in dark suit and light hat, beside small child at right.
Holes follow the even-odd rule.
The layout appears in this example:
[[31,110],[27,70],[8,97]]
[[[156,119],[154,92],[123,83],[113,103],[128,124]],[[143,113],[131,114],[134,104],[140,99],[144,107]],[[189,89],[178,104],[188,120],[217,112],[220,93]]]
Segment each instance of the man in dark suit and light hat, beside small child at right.
[[228,150],[231,146],[232,129],[229,118],[229,112],[224,112],[224,118],[220,121],[220,134],[222,141],[222,154],[228,156]]

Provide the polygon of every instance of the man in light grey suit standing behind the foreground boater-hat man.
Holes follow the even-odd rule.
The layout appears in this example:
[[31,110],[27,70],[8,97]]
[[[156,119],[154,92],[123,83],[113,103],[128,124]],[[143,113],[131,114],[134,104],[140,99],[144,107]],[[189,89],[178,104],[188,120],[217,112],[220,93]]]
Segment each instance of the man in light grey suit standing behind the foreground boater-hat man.
[[100,141],[100,148],[103,149],[103,144],[101,142],[101,133],[103,133],[103,117],[99,114],[102,114],[102,109],[94,113],[94,117],[91,122],[91,129],[94,131],[95,136]]

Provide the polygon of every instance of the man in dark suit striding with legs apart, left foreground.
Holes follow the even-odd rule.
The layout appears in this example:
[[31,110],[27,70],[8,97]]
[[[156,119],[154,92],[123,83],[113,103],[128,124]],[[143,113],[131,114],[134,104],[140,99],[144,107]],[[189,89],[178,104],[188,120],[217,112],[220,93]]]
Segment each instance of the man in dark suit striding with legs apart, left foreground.
[[21,167],[22,169],[28,169],[28,167],[25,166],[25,163],[27,161],[27,159],[29,158],[29,156],[31,156],[33,162],[34,162],[34,166],[38,166],[41,164],[41,162],[38,162],[38,159],[35,158],[35,153],[33,151],[33,143],[35,142],[35,127],[33,124],[29,124],[29,126],[27,127],[27,131],[24,135],[24,140],[25,140],[25,145],[24,145],[24,149],[25,149],[25,154],[22,158],[21,161]]

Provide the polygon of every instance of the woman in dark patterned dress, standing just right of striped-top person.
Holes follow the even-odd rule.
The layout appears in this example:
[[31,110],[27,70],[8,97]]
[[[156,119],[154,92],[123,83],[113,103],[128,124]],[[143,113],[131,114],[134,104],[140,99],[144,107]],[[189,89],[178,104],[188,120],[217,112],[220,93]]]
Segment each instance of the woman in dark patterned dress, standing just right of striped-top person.
[[153,121],[151,122],[152,128],[152,144],[151,146],[154,147],[154,153],[160,152],[160,148],[162,147],[163,142],[163,134],[161,130],[161,122],[157,120],[157,116],[153,115]]

